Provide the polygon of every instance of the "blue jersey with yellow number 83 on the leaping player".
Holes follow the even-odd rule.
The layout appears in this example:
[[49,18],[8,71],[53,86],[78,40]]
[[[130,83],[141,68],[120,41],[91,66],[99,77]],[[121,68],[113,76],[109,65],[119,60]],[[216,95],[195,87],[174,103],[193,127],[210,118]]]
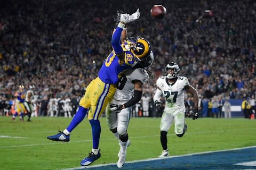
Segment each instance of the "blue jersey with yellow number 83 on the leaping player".
[[101,66],[98,77],[101,81],[109,84],[116,84],[121,74],[133,67],[137,62],[135,56],[129,51],[124,51],[124,64],[119,64],[119,59],[115,52],[111,52]]

